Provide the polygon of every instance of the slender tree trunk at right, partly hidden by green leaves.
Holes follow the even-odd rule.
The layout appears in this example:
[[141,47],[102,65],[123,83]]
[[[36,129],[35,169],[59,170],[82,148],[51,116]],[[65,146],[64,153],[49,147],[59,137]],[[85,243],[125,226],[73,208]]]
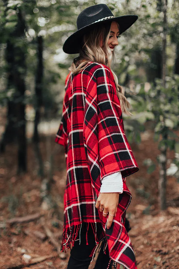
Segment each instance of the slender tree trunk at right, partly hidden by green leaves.
[[[163,80],[163,87],[165,88],[166,84],[166,30],[167,30],[167,0],[164,0],[163,4],[163,41],[162,41],[162,80]],[[162,94],[162,93],[161,93]],[[165,119],[164,119],[165,120]],[[166,141],[168,138],[168,128],[165,126],[163,128],[162,133],[162,140]],[[159,169],[160,169],[160,176],[158,181],[158,188],[159,188],[159,203],[161,210],[166,209],[166,151],[167,145],[166,143],[161,146],[160,148],[160,155],[159,155]]]

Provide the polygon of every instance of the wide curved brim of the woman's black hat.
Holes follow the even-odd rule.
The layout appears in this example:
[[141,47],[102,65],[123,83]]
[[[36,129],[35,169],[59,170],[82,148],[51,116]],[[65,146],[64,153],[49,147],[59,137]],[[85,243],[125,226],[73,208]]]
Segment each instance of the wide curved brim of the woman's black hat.
[[73,33],[71,36],[69,36],[63,45],[63,51],[67,54],[77,54],[79,53],[79,48],[82,45],[82,37],[84,33],[87,32],[90,28],[94,27],[97,24],[103,23],[103,22],[118,22],[119,24],[119,31],[120,34],[124,33],[136,20],[138,19],[137,15],[124,15],[119,16],[99,22],[92,23],[90,25],[87,25],[85,27],[82,27],[81,29],[77,30],[75,33]]

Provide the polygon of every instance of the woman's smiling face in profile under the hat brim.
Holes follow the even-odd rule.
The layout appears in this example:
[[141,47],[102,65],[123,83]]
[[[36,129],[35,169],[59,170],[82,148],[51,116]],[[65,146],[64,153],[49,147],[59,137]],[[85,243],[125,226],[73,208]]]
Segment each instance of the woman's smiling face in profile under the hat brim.
[[[114,50],[115,46],[118,45],[118,37],[119,37],[119,28],[117,22],[112,22],[111,23],[111,28],[110,28],[110,36],[108,40],[108,45],[111,51]],[[101,40],[100,46],[102,47],[103,45],[103,40]]]

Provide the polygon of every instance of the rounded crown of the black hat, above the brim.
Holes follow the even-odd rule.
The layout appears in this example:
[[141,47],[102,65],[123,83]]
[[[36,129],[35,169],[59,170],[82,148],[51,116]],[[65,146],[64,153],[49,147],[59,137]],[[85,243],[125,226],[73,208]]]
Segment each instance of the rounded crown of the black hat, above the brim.
[[87,7],[81,11],[78,15],[76,24],[77,29],[81,29],[87,25],[97,22],[101,19],[114,16],[106,4],[97,4],[91,7]]

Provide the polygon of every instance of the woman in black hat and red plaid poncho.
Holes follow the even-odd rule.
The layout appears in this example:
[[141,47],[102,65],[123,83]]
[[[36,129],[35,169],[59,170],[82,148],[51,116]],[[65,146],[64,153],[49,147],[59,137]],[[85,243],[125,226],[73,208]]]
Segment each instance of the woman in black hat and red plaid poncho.
[[125,181],[139,168],[122,119],[130,105],[110,68],[119,33],[137,18],[115,17],[105,4],[88,7],[63,45],[64,52],[79,53],[65,81],[55,139],[67,164],[62,250],[72,246],[68,269],[88,268],[101,241],[95,269],[137,268],[126,230],[132,195]]

